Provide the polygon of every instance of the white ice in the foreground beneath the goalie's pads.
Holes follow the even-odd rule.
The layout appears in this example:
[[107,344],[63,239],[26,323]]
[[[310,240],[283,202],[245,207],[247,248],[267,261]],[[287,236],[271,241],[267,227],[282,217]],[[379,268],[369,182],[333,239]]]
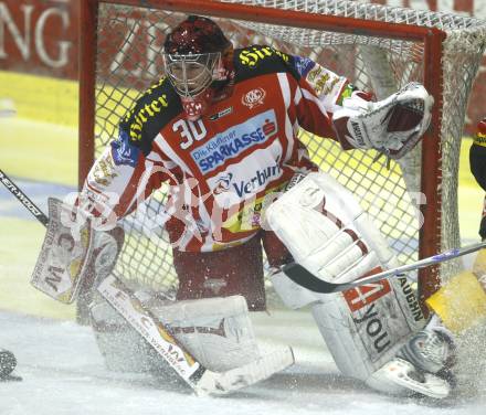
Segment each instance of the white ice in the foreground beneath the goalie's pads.
[[0,311],[0,345],[18,359],[22,382],[0,383],[1,415],[485,414],[484,396],[433,402],[376,393],[340,375],[306,311],[254,313],[265,348],[292,344],[297,363],[225,397],[196,397],[158,377],[115,373],[91,328]]

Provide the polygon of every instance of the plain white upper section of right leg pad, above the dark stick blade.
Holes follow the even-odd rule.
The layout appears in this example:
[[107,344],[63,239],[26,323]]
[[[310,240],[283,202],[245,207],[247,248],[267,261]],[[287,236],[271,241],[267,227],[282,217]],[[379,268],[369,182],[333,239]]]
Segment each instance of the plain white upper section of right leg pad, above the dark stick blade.
[[309,173],[266,211],[266,223],[296,263],[326,280],[348,283],[397,259],[351,192]]

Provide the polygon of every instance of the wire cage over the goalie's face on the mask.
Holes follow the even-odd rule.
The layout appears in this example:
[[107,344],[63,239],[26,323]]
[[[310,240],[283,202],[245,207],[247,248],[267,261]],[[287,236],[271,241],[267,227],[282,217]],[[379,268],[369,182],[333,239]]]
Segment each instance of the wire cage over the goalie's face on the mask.
[[166,74],[181,97],[194,98],[218,79],[215,72],[221,66],[221,52],[163,53],[162,56]]

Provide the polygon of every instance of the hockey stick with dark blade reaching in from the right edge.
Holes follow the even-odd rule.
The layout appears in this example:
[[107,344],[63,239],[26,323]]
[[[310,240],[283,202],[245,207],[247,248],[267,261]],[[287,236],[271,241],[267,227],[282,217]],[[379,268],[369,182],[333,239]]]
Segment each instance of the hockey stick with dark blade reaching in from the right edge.
[[323,292],[323,294],[339,292],[339,291],[346,291],[347,289],[360,287],[367,284],[377,283],[384,278],[403,277],[406,275],[406,273],[411,270],[425,268],[434,264],[458,258],[459,256],[471,254],[484,247],[486,247],[486,242],[479,242],[477,244],[467,245],[462,248],[448,249],[441,254],[416,260],[412,264],[403,265],[393,269],[388,269],[379,274],[373,274],[369,277],[364,277],[356,281],[342,283],[342,284],[325,281],[324,279],[320,279],[319,277],[310,273],[308,269],[296,263],[289,263],[287,265],[284,265],[283,272],[294,283],[311,291]]

